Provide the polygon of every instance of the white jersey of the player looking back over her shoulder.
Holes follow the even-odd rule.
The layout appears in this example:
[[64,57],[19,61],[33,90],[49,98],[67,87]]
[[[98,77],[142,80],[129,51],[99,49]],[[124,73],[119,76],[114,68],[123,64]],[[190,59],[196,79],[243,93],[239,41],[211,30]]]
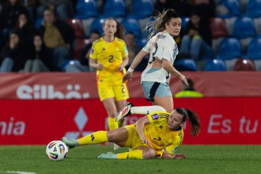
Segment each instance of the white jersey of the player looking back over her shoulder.
[[159,60],[165,58],[173,65],[177,54],[179,54],[179,50],[177,47],[177,43],[174,41],[172,36],[170,36],[170,34],[168,33],[161,34],[161,32],[159,32],[155,36],[153,36],[150,41],[148,41],[148,43],[142,50],[150,53],[150,58],[148,61],[148,66],[141,74],[141,81],[169,83],[170,73],[168,73],[166,69],[164,69],[163,67],[161,67],[161,69],[158,69],[157,71],[150,71],[150,69],[152,69],[152,65],[156,57],[159,58]]

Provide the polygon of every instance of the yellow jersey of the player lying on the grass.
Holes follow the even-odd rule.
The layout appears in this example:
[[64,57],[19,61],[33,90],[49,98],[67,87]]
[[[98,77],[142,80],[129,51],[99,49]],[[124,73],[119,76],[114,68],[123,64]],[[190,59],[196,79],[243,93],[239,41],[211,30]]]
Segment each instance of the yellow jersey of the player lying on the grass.
[[155,111],[147,115],[150,124],[144,127],[144,134],[147,140],[150,141],[154,149],[160,154],[165,150],[174,154],[179,149],[183,141],[183,128],[179,131],[171,131],[168,128],[168,117],[170,113],[165,111]]

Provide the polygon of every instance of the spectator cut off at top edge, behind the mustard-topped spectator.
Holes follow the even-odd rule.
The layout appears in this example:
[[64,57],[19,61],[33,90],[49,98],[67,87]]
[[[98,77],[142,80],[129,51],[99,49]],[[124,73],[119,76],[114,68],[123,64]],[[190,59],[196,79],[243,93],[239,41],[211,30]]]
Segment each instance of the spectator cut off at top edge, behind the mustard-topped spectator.
[[43,17],[46,9],[56,12],[61,21],[69,18],[69,1],[67,0],[39,0],[41,6],[37,8],[38,17]]

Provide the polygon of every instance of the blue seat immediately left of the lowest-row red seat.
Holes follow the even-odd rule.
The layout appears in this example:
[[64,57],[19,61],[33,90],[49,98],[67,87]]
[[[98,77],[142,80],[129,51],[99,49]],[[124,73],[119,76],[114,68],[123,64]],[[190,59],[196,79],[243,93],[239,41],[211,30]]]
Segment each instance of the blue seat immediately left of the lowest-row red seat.
[[209,59],[204,70],[207,72],[224,72],[227,71],[227,67],[225,61],[221,59]]

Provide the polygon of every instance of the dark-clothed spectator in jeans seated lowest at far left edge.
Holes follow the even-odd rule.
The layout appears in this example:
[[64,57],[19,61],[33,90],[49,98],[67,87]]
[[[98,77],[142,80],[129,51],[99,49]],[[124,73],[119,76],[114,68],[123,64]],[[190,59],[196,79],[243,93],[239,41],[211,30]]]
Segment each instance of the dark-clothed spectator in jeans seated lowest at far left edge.
[[1,52],[0,72],[21,72],[28,52],[30,51],[21,45],[19,34],[11,32],[10,40]]

